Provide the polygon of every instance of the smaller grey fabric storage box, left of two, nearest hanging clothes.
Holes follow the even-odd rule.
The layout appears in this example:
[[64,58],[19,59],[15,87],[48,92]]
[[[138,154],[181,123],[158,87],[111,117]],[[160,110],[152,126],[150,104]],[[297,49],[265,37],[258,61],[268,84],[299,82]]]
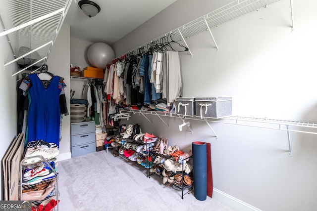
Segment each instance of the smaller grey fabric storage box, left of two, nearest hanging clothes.
[[177,114],[184,116],[195,116],[195,98],[194,97],[177,97],[176,98]]

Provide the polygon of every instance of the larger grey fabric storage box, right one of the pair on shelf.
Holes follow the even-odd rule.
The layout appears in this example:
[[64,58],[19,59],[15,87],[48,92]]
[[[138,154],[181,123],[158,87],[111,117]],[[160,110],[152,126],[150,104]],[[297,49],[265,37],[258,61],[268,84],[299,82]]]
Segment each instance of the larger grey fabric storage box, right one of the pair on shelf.
[[221,118],[231,116],[232,97],[197,97],[196,116]]

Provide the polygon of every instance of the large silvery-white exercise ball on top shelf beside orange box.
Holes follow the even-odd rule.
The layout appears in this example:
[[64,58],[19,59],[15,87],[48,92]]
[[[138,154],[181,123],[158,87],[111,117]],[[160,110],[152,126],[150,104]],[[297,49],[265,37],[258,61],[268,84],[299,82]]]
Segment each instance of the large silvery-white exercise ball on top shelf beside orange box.
[[96,42],[88,48],[87,57],[93,67],[105,69],[114,58],[114,51],[108,44]]

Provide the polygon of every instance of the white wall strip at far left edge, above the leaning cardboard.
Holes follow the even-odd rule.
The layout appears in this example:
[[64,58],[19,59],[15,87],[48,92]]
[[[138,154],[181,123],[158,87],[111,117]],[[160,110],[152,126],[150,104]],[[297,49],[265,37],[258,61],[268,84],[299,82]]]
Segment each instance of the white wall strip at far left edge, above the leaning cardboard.
[[[2,32],[0,28],[0,32]],[[0,158],[2,160],[10,143],[14,140],[17,131],[17,112],[16,112],[16,77],[11,77],[17,71],[16,63],[5,67],[4,64],[14,59],[9,44],[5,36],[0,38],[0,113],[1,113],[1,141],[0,141]],[[1,163],[2,166],[2,163]],[[1,172],[1,181],[3,181],[3,174]],[[2,182],[0,188],[2,190]],[[2,191],[0,198],[2,198]]]

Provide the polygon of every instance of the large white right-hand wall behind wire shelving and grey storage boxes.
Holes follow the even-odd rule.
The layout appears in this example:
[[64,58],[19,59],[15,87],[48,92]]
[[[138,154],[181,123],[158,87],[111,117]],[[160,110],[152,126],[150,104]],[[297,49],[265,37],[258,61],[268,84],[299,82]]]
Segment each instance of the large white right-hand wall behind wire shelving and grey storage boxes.
[[[176,1],[168,12],[185,17],[177,8],[192,6],[189,0]],[[194,57],[181,53],[183,96],[232,96],[235,116],[317,122],[316,7],[314,0],[294,2],[293,33],[287,0],[213,28],[218,52],[208,32],[187,39]],[[161,20],[159,14],[150,22]],[[113,44],[116,56],[130,50],[133,44],[128,42],[136,47],[150,41],[145,31],[160,30],[161,35],[168,27],[145,23]],[[316,135],[291,132],[293,155],[289,157],[286,131],[212,123],[216,141],[204,122],[191,121],[191,135],[178,131],[179,119],[163,118],[166,127],[157,117],[147,117],[153,125],[139,115],[129,123],[139,123],[143,131],[167,137],[170,145],[184,150],[193,141],[211,143],[214,188],[265,211],[317,210]],[[213,197],[235,210],[248,210],[217,193]]]

